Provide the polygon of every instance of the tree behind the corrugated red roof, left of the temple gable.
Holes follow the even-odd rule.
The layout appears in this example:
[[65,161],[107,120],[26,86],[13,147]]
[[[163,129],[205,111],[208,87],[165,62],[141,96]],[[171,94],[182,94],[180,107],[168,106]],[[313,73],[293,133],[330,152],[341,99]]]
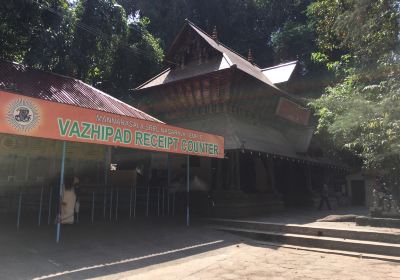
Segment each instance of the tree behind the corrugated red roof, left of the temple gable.
[[114,0],[80,1],[76,17],[74,76],[124,99],[129,89],[160,70],[163,51],[147,30],[147,18],[128,19]]

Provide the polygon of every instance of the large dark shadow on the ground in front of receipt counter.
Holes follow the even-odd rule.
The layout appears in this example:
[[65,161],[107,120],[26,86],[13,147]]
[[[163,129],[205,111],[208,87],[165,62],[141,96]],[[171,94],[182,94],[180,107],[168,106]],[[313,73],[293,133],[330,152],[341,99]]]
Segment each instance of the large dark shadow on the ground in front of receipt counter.
[[182,221],[151,219],[118,224],[26,225],[0,231],[0,278],[86,279],[209,252],[239,238]]

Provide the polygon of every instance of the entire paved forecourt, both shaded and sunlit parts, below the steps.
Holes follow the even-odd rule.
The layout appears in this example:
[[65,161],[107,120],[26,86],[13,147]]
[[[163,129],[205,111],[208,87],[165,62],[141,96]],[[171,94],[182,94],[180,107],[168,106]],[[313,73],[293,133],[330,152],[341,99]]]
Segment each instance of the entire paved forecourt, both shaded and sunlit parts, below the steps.
[[399,263],[268,247],[182,220],[80,224],[54,238],[54,226],[2,225],[0,279],[400,279]]

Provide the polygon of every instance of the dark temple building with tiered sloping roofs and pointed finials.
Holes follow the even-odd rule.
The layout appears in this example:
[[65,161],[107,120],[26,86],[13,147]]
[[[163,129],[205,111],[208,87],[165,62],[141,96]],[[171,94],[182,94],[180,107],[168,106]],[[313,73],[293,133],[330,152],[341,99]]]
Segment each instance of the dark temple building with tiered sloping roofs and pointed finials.
[[[258,67],[186,21],[165,56],[165,71],[137,87],[134,106],[173,125],[221,135],[225,159],[197,158],[208,214],[237,216],[312,206],[324,181],[337,189],[343,167],[310,156],[315,120],[285,85],[296,62]],[[210,205],[212,205],[210,207]]]

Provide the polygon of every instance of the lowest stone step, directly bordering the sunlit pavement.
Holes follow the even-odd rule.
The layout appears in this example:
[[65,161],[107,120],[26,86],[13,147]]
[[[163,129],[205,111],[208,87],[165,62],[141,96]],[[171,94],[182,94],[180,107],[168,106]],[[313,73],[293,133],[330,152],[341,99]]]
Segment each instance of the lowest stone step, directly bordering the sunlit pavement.
[[216,226],[215,229],[252,238],[255,240],[297,245],[311,248],[350,251],[400,257],[400,244],[343,239],[325,236],[308,236],[281,232]]

